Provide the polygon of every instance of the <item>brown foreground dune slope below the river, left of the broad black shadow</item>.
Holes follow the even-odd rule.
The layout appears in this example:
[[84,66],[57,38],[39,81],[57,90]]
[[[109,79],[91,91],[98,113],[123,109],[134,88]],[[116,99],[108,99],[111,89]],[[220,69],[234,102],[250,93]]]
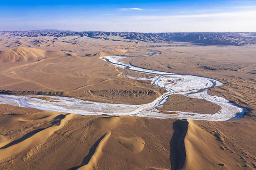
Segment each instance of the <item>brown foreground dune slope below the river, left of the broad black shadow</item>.
[[[171,148],[177,148],[174,139],[170,143],[176,119],[81,115],[71,115],[71,119],[58,112],[0,107],[1,168],[142,170],[177,166],[177,154],[170,154]],[[14,148],[19,150],[14,152]]]

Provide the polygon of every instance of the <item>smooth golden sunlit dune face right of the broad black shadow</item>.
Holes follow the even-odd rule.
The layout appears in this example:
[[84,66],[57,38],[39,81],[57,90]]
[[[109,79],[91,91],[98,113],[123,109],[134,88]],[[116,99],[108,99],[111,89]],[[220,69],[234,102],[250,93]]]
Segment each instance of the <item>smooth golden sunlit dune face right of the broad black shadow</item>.
[[[193,120],[189,122],[187,134],[185,136],[186,159],[182,170],[207,170],[209,167],[217,167],[225,162],[222,157],[215,138],[201,127],[197,126]],[[207,154],[206,154],[207,153]]]

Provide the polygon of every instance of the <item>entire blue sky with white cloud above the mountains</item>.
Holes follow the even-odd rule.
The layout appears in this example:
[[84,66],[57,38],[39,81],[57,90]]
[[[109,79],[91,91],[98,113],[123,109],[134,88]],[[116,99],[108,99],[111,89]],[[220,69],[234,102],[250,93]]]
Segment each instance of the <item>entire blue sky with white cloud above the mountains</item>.
[[256,32],[256,0],[11,0],[0,31]]

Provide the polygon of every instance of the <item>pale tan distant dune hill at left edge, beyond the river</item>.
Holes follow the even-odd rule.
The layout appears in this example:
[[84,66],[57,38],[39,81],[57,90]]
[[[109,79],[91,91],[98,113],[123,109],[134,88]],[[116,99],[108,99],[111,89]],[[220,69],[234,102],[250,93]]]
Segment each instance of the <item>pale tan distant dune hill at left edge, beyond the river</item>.
[[47,57],[65,57],[71,54],[62,51],[45,51],[35,48],[18,47],[0,51],[0,62],[37,61]]

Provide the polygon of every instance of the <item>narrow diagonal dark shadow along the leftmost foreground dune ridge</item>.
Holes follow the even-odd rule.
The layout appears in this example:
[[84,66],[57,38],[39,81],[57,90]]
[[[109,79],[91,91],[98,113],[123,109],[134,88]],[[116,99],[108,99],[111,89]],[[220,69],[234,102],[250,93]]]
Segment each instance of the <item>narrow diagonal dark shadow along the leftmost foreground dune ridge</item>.
[[[51,125],[49,127],[53,127],[53,126],[59,126],[60,125],[60,121],[61,119],[64,119],[66,117],[66,115],[58,115],[56,116],[53,120],[53,122],[51,123]],[[57,120],[56,120],[57,119]],[[5,148],[8,148],[14,144],[18,144],[24,140],[26,140],[27,138],[35,135],[36,133],[38,132],[41,132],[42,130],[46,129],[46,128],[49,128],[49,127],[45,127],[45,128],[40,128],[40,129],[36,129],[36,130],[33,130],[31,132],[28,132],[26,135],[22,136],[21,138],[17,139],[17,140],[14,140],[12,142],[10,142],[9,144],[6,144],[5,146],[1,147],[0,149],[5,149]]]

